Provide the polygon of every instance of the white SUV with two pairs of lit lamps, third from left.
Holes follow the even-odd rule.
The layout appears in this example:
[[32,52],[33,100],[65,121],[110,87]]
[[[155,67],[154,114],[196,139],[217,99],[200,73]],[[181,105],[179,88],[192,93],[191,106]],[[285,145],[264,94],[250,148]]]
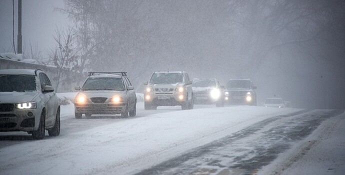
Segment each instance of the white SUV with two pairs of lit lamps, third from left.
[[154,71],[150,80],[144,82],[144,108],[181,105],[182,109],[193,108],[192,81],[185,71]]

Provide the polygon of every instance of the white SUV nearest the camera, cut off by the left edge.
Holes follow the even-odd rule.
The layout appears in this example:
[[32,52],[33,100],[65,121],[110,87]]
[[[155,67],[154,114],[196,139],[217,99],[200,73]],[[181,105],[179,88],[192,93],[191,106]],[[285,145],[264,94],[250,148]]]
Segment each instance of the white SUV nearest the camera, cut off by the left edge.
[[0,131],[26,131],[35,139],[60,133],[60,106],[39,69],[0,70]]

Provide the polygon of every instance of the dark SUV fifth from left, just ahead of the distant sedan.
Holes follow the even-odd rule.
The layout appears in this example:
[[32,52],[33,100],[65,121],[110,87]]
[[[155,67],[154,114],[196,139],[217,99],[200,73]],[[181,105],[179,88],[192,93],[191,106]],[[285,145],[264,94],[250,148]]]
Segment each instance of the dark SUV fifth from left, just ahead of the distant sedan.
[[225,101],[229,104],[256,105],[255,89],[250,79],[230,79],[226,83]]

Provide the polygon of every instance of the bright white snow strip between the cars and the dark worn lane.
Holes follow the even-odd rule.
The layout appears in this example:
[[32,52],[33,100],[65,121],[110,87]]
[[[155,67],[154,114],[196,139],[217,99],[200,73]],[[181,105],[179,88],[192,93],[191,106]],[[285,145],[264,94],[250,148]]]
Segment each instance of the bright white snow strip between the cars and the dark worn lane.
[[[118,119],[84,131],[3,147],[0,171],[1,174],[130,174],[260,120],[298,110],[230,106]],[[73,110],[62,106],[63,112],[74,120]]]

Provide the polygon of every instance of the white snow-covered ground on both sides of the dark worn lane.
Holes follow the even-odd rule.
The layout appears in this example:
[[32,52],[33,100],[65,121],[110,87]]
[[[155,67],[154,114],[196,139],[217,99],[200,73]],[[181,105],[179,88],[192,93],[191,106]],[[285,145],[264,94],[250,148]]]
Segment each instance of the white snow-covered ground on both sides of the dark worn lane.
[[[59,94],[70,99],[74,95]],[[138,102],[136,117],[75,119],[73,104],[62,105],[61,129],[69,132],[0,147],[0,174],[133,174],[258,121],[300,110],[196,106],[146,111]],[[92,125],[97,120],[109,122]],[[69,128],[78,126],[74,123],[89,124],[89,128]],[[345,174],[343,133],[344,114],[328,119],[258,174]]]

